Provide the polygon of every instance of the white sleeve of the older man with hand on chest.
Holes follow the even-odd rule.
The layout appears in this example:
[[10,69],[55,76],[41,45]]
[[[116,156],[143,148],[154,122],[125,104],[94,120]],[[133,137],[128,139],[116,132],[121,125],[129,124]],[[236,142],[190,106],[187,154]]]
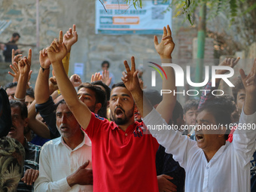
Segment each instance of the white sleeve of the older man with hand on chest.
[[66,178],[62,178],[59,181],[52,181],[50,175],[51,169],[50,163],[47,159],[47,145],[43,146],[41,149],[40,159],[39,159],[39,175],[35,180],[35,192],[36,191],[59,191],[65,192],[71,189]]

